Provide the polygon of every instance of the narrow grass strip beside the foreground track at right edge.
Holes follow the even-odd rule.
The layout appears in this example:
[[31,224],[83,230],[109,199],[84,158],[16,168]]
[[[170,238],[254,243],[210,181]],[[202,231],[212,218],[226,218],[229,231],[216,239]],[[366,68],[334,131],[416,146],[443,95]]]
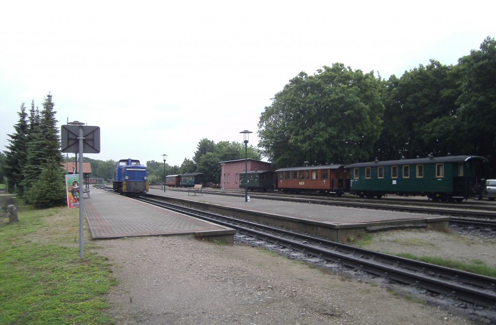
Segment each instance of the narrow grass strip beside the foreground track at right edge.
[[450,267],[461,271],[467,271],[481,275],[496,277],[496,268],[486,265],[481,260],[473,260],[471,263],[466,263],[458,260],[449,260],[439,257],[430,257],[430,256],[418,257],[410,253],[400,253],[400,254],[396,254],[396,256],[410,260],[420,260],[426,263]]

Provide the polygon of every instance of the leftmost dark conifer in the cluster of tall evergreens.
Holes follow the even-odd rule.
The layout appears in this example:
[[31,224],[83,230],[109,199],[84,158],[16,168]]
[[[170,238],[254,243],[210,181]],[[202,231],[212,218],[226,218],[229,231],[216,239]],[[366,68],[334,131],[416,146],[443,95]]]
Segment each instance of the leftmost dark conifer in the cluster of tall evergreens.
[[15,132],[13,134],[7,134],[10,137],[10,139],[8,139],[10,144],[6,146],[8,151],[4,151],[5,161],[3,163],[3,173],[7,181],[8,189],[13,190],[15,184],[18,187],[18,193],[22,193],[20,185],[23,184],[24,180],[23,167],[26,163],[28,142],[27,114],[24,103],[21,104],[21,109],[18,114],[19,121],[14,126]]

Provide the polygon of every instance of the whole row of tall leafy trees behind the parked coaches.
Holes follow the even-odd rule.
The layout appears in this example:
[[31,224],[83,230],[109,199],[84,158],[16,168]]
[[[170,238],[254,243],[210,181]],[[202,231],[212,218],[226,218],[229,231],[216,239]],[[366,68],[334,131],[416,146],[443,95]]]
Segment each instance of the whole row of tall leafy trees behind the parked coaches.
[[259,147],[275,167],[466,154],[496,176],[496,42],[457,65],[388,80],[336,63],[300,72],[265,107]]

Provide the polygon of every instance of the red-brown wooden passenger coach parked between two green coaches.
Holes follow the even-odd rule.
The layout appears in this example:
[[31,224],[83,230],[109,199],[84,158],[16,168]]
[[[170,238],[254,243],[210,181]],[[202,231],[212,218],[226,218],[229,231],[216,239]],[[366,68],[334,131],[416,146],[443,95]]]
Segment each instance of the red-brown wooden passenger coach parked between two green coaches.
[[342,195],[350,186],[345,165],[330,164],[279,168],[277,188],[282,192],[300,193],[316,191],[321,194]]

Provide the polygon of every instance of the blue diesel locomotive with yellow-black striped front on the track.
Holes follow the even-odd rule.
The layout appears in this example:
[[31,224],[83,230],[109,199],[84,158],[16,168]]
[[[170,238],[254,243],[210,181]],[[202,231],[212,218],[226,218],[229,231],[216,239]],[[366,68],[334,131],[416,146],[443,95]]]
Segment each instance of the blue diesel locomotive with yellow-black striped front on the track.
[[114,170],[114,192],[121,195],[139,196],[148,192],[146,166],[139,160],[121,159]]

